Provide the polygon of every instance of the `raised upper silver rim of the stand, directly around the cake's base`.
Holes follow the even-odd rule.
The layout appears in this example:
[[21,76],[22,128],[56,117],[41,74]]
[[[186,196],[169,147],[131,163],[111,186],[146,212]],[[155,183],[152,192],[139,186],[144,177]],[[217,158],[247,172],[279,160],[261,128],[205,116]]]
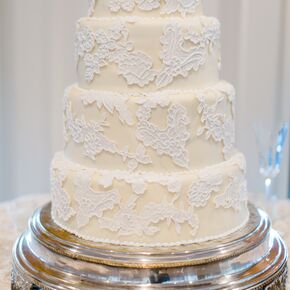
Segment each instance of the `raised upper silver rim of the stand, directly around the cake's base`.
[[[271,223],[269,221],[269,218],[267,215],[261,211],[260,209],[257,209],[253,205],[249,205],[249,211],[250,216],[253,216],[257,219],[259,217],[259,220],[256,221],[256,224],[254,228],[252,228],[252,231],[250,233],[247,233],[246,235],[239,236],[239,240],[241,241],[245,236],[247,236],[246,242],[245,242],[245,248],[240,247],[240,245],[237,245],[238,241],[227,241],[226,243],[221,243],[221,239],[210,241],[211,248],[201,248],[201,249],[192,249],[191,246],[197,245],[185,245],[184,247],[178,246],[178,250],[176,250],[175,247],[168,247],[166,248],[167,252],[163,252],[160,254],[159,249],[160,248],[154,248],[155,252],[152,252],[152,248],[149,248],[147,252],[145,252],[145,247],[116,247],[116,245],[112,244],[104,244],[104,243],[93,243],[90,241],[85,241],[83,239],[80,239],[76,237],[73,234],[70,234],[69,232],[61,229],[58,227],[52,220],[51,214],[50,214],[50,203],[44,205],[42,208],[38,209],[34,215],[31,217],[30,220],[30,230],[33,233],[35,239],[38,240],[39,243],[41,243],[43,246],[50,248],[50,250],[61,254],[66,255],[71,258],[76,258],[79,260],[89,261],[89,262],[95,262],[100,263],[104,265],[109,266],[126,266],[129,268],[159,268],[160,266],[166,265],[167,267],[181,267],[181,266],[191,266],[191,265],[200,265],[205,264],[208,262],[215,262],[219,260],[223,260],[225,258],[231,258],[234,256],[238,256],[240,254],[243,254],[251,249],[253,249],[256,244],[257,240],[255,240],[255,243],[248,241],[251,241],[253,239],[253,235],[256,235],[256,237],[259,237],[258,242],[262,243],[265,239],[268,237],[269,229],[271,228]],[[46,218],[49,219],[48,224],[52,222],[52,229],[56,228],[57,233],[61,233],[63,236],[68,236],[69,240],[66,238],[62,238],[59,235],[54,235],[55,232],[51,232],[51,228],[48,227],[48,224],[43,224],[42,221],[42,214],[45,213]],[[250,224],[250,220],[248,223]],[[73,242],[71,240],[73,239]],[[206,244],[206,243],[205,243]],[[236,245],[234,251],[228,251],[226,252],[226,249],[230,249],[232,245]],[[93,245],[93,247],[90,247]],[[102,247],[98,247],[98,246]],[[203,245],[204,246],[204,245]],[[105,248],[104,248],[105,247]],[[81,250],[80,250],[81,249]],[[89,249],[89,251],[88,251]],[[129,250],[128,250],[129,249]],[[142,251],[138,252],[136,249],[142,249]],[[165,248],[162,247],[162,250]],[[181,250],[183,249],[183,250]],[[221,249],[223,249],[223,254],[220,254],[217,256],[217,253],[221,252]],[[130,252],[130,250],[133,250]],[[191,252],[190,252],[191,251]],[[211,255],[208,255],[206,258],[204,256],[204,253],[209,253],[212,251]],[[142,263],[138,262],[136,263],[135,257],[136,255],[139,255],[140,259],[142,258]],[[174,257],[174,261],[170,261],[171,257]],[[177,259],[178,257],[178,259]],[[201,257],[201,258],[198,258]],[[133,259],[133,261],[132,261]],[[162,263],[161,263],[162,261]]]

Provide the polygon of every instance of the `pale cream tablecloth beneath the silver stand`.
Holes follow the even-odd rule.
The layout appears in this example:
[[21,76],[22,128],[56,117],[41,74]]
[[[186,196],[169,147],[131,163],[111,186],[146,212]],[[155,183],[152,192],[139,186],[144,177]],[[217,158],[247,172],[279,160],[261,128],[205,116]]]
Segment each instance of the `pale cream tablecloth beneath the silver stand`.
[[[10,289],[11,250],[17,237],[27,227],[33,211],[49,200],[48,195],[31,195],[0,203],[0,289]],[[290,246],[290,201],[277,202],[274,228]],[[290,290],[290,287],[287,288]]]

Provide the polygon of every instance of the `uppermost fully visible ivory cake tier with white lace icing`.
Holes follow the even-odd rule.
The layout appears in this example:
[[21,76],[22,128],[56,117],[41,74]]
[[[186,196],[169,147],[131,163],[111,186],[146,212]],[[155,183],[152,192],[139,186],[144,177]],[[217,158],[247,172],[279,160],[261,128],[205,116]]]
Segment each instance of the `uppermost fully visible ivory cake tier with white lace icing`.
[[191,90],[219,80],[220,24],[211,17],[83,18],[75,45],[83,89]]

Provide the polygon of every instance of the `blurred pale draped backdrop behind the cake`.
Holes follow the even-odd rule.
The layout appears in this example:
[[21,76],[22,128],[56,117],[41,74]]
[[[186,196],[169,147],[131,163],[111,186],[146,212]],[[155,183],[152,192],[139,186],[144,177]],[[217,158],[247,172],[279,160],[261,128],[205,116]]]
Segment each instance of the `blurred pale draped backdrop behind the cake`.
[[[0,200],[49,191],[62,148],[62,96],[74,83],[76,20],[85,0],[0,0]],[[222,23],[222,78],[237,97],[237,146],[249,189],[263,191],[253,124],[290,116],[290,0],[204,0]],[[275,183],[289,196],[289,146]]]

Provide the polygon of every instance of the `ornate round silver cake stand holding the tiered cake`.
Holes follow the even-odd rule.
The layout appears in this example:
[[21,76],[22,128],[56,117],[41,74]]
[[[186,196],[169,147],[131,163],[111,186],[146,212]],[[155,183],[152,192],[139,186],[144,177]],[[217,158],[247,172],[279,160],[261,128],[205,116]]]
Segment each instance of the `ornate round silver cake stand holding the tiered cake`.
[[267,215],[225,239],[172,248],[84,241],[37,210],[14,247],[12,289],[286,289],[287,249]]

